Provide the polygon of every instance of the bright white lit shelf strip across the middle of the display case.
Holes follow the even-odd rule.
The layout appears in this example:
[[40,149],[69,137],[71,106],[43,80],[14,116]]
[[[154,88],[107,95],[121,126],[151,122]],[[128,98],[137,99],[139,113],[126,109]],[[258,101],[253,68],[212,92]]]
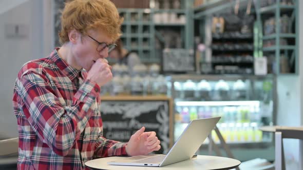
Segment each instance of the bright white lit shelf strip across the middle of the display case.
[[177,106],[222,106],[222,105],[255,105],[259,106],[260,101],[177,101]]

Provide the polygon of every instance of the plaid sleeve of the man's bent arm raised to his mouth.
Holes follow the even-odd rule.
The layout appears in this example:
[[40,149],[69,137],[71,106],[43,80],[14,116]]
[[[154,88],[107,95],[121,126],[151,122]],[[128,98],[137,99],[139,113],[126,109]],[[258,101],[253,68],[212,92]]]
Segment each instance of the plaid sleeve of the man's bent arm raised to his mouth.
[[72,105],[63,106],[60,101],[64,98],[56,96],[49,84],[44,75],[28,70],[16,80],[18,102],[23,102],[24,114],[36,135],[56,154],[65,156],[84,130],[100,87],[84,81]]

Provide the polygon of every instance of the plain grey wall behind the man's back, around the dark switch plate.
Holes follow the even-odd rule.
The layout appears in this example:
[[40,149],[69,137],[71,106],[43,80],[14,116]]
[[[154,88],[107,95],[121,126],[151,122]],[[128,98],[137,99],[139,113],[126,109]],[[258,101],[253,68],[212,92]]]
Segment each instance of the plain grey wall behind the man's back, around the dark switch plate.
[[[0,14],[0,136],[16,137],[17,122],[12,109],[12,94],[17,72],[22,65],[43,56],[42,1],[31,0]],[[7,37],[8,24],[25,26],[26,37]]]

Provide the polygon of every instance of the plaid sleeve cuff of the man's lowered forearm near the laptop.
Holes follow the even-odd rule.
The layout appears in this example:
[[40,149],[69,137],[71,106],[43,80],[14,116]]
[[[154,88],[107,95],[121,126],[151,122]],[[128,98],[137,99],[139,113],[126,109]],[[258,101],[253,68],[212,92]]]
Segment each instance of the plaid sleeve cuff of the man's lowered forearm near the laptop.
[[127,143],[109,140],[99,136],[94,150],[94,158],[104,158],[108,156],[127,156]]

